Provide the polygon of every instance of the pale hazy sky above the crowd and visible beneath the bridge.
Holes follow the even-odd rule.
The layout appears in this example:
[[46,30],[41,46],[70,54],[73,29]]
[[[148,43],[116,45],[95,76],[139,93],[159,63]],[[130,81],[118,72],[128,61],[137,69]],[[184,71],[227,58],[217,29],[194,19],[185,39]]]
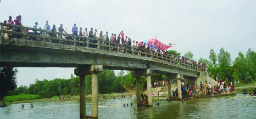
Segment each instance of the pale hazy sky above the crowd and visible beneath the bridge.
[[[63,24],[71,33],[71,27],[119,33],[124,31],[135,41],[146,41],[156,36],[184,55],[191,51],[194,59],[208,59],[210,49],[219,53],[221,47],[231,54],[256,51],[256,1],[255,0],[2,0],[0,21],[8,16],[22,16],[24,26],[35,22],[57,27]],[[174,47],[170,48],[174,50]],[[70,78],[74,68],[18,67],[18,86],[35,83],[35,80]]]

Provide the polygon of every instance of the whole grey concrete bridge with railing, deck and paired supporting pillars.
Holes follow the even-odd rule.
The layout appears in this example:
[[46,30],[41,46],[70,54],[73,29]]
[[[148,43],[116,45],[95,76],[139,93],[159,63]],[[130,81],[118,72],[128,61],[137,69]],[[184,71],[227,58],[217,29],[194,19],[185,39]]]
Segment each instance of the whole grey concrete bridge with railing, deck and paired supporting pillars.
[[[169,97],[171,97],[171,79],[177,79],[179,98],[182,98],[181,78],[196,81],[202,74],[202,69],[197,65],[169,55],[154,53],[151,50],[140,50],[101,39],[8,25],[1,22],[0,25],[0,66],[76,67],[75,75],[80,77],[80,117],[98,117],[97,73],[103,69],[134,71],[137,105],[141,101],[139,77],[147,76],[148,106],[152,106],[152,71],[147,68],[147,65],[152,65],[155,73],[166,75]],[[13,31],[5,30],[6,26],[13,27]],[[15,32],[15,29],[21,29],[22,32]],[[27,30],[42,32],[43,35],[28,33]],[[12,38],[5,37],[7,36],[5,33],[12,35]],[[58,37],[51,37],[53,35],[58,35]],[[85,76],[87,75],[92,75],[92,116],[86,116],[85,111]]]

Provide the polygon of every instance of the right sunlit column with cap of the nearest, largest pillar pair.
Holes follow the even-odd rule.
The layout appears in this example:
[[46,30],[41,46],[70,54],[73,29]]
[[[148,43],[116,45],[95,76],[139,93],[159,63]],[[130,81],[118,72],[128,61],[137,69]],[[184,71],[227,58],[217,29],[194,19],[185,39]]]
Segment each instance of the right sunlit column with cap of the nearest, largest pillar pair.
[[92,118],[98,117],[98,76],[96,73],[102,72],[102,65],[91,65],[92,73]]

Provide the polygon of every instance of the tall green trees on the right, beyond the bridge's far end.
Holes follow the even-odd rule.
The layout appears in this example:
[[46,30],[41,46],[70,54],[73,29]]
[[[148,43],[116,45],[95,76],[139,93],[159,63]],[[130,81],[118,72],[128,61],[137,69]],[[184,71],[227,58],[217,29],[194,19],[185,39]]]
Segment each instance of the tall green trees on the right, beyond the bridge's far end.
[[[248,49],[246,55],[239,52],[235,61],[233,61],[233,66],[231,65],[230,53],[226,52],[223,48],[220,49],[218,54],[218,63],[214,64],[215,53],[214,50],[210,50],[210,64],[208,64],[208,71],[211,72],[211,77],[214,77],[216,73],[218,78],[221,80],[228,79],[229,81],[241,81],[243,83],[249,83],[256,78],[256,53],[251,49]],[[202,62],[203,59],[199,59]],[[204,61],[203,61],[204,63]],[[204,64],[207,64],[206,62]]]

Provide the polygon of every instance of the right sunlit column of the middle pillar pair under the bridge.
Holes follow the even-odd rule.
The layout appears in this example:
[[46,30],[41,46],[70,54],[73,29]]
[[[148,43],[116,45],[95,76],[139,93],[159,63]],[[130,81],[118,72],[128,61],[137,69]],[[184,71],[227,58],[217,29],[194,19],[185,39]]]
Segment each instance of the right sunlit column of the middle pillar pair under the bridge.
[[147,70],[147,96],[148,96],[148,106],[153,106],[152,103],[152,92],[151,92],[151,72]]

